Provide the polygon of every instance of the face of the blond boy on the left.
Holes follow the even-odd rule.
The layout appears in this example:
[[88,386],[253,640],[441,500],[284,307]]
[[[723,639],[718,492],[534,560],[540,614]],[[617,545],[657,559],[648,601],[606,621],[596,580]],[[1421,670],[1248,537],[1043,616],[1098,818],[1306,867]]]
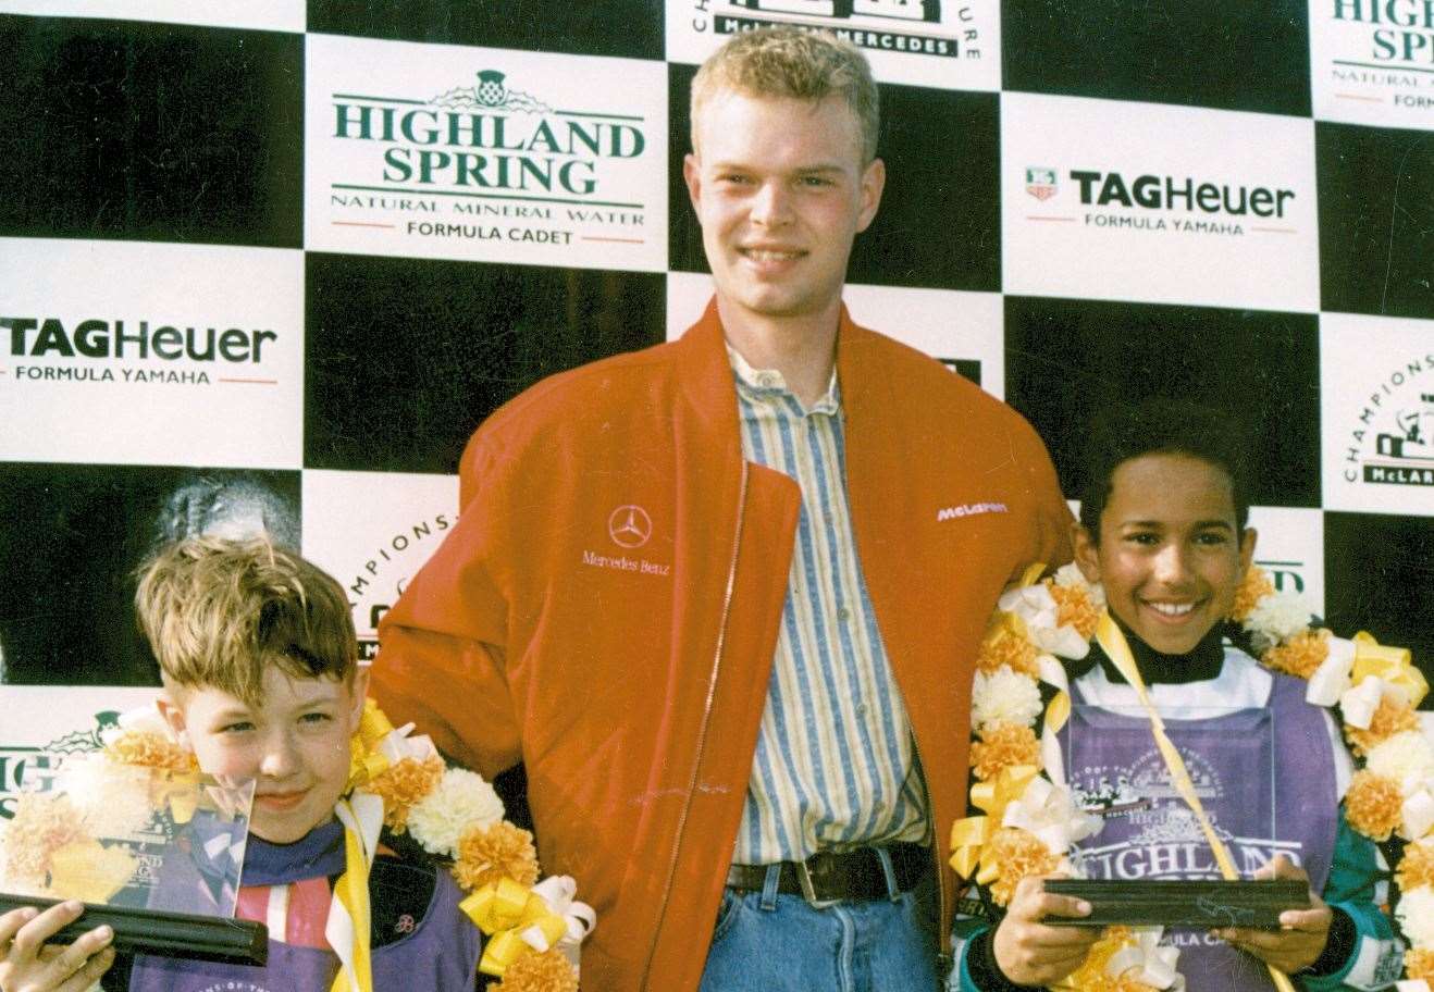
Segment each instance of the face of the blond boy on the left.
[[262,705],[217,688],[186,687],[161,711],[188,731],[199,767],[225,780],[254,778],[250,830],[287,844],[326,823],[348,783],[348,738],[358,727],[369,669],[347,682],[264,674]]

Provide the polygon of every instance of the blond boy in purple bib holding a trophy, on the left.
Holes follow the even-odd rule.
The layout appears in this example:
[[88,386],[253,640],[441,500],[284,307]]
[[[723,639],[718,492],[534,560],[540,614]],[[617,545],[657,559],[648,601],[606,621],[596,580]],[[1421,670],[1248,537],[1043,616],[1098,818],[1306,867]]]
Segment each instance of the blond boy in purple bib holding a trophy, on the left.
[[[194,538],[149,562],[135,605],[175,737],[204,771],[255,783],[237,915],[268,925],[270,953],[265,966],[139,956],[128,988],[328,989],[340,970],[326,938],[331,890],[354,869],[336,807],[369,684],[343,589],[268,540]],[[192,890],[195,870],[185,864],[159,884]],[[479,933],[447,873],[380,852],[369,892],[373,988],[473,988]],[[108,927],[63,950],[44,943],[80,910],[69,902],[0,916],[0,989],[69,992],[103,973],[113,962]]]

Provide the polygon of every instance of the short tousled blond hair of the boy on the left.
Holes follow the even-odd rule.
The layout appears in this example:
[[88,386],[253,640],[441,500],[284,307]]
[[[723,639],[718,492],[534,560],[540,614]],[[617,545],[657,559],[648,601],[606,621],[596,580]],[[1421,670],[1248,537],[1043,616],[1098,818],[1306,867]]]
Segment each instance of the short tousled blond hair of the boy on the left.
[[343,588],[267,539],[189,538],[141,569],[135,609],[166,687],[262,704],[264,672],[348,679],[357,641]]

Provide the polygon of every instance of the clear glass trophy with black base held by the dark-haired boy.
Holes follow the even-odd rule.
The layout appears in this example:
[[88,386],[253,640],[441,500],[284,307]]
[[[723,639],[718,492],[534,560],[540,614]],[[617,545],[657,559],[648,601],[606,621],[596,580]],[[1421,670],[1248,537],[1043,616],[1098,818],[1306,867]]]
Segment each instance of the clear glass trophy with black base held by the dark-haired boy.
[[[1100,817],[1081,841],[1084,879],[1047,884],[1096,910],[1083,925],[1189,927],[1278,926],[1283,909],[1308,906],[1302,882],[1253,882],[1278,854],[1275,715],[1266,708],[1184,707],[1164,728],[1184,761],[1210,829],[1240,880],[1226,882],[1199,817],[1176,788],[1141,708],[1073,707],[1063,741],[1077,806]],[[1055,922],[1055,920],[1048,920]]]

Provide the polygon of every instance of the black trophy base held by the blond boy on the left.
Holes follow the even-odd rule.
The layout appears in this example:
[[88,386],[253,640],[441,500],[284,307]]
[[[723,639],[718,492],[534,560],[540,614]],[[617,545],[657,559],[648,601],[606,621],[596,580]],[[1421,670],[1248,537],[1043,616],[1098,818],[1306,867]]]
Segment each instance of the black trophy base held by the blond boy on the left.
[[[22,906],[43,910],[59,902],[65,900],[0,892],[0,915]],[[115,930],[112,946],[119,953],[198,958],[238,965],[262,965],[268,960],[268,929],[262,923],[95,903],[85,903],[85,913],[52,940],[72,943],[82,933],[106,923]]]

